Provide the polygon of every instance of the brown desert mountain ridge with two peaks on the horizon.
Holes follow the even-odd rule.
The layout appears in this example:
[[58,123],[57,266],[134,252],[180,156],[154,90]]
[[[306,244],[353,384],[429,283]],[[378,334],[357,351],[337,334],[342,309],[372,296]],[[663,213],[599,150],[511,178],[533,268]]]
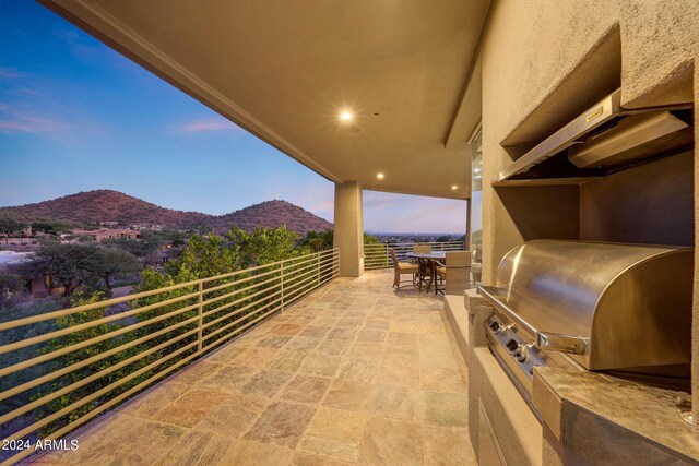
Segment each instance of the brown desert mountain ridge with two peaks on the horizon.
[[177,228],[208,226],[216,232],[226,231],[233,226],[250,231],[256,226],[274,228],[286,225],[289,230],[300,236],[310,230],[332,228],[330,222],[286,201],[268,201],[230,214],[215,216],[164,208],[111,190],[79,192],[36,204],[0,207],[0,217],[10,217],[22,223],[62,220],[72,224],[98,222],[118,222],[120,225],[154,224]]

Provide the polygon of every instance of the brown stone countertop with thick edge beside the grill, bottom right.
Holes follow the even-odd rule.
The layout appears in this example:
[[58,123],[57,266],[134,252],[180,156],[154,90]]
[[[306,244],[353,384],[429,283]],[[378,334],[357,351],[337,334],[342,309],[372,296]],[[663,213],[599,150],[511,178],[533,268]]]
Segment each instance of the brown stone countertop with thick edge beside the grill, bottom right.
[[680,394],[593,372],[537,368],[534,375],[534,405],[544,422],[587,459],[624,451],[643,463],[664,455],[697,463],[699,440],[675,407]]

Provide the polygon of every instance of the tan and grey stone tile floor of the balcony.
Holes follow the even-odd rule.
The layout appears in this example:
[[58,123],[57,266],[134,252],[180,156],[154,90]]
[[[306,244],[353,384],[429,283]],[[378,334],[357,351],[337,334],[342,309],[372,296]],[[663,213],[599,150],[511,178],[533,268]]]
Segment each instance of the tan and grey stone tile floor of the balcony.
[[333,280],[35,464],[475,464],[442,300],[391,283]]

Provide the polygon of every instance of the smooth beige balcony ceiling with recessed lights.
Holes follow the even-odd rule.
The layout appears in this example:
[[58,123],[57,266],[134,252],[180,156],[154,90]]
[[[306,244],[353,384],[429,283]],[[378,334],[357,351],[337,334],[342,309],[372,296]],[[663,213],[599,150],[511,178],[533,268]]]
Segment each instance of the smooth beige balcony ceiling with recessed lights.
[[331,180],[470,196],[489,0],[42,2]]

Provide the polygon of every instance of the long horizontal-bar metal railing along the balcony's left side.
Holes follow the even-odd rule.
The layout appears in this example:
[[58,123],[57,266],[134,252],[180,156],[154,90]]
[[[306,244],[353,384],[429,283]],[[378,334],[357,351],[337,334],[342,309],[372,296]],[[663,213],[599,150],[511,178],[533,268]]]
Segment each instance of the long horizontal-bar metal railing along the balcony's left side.
[[[20,461],[37,440],[61,438],[284,311],[335,278],[339,267],[333,249],[0,323],[0,332],[21,335],[0,346],[0,402],[12,406],[0,411],[0,426],[3,444],[14,451],[3,449],[1,464]],[[130,309],[111,313],[125,303]],[[47,322],[57,325],[37,335],[34,330]],[[12,357],[28,349],[32,357]],[[9,380],[15,383],[9,386]]]

